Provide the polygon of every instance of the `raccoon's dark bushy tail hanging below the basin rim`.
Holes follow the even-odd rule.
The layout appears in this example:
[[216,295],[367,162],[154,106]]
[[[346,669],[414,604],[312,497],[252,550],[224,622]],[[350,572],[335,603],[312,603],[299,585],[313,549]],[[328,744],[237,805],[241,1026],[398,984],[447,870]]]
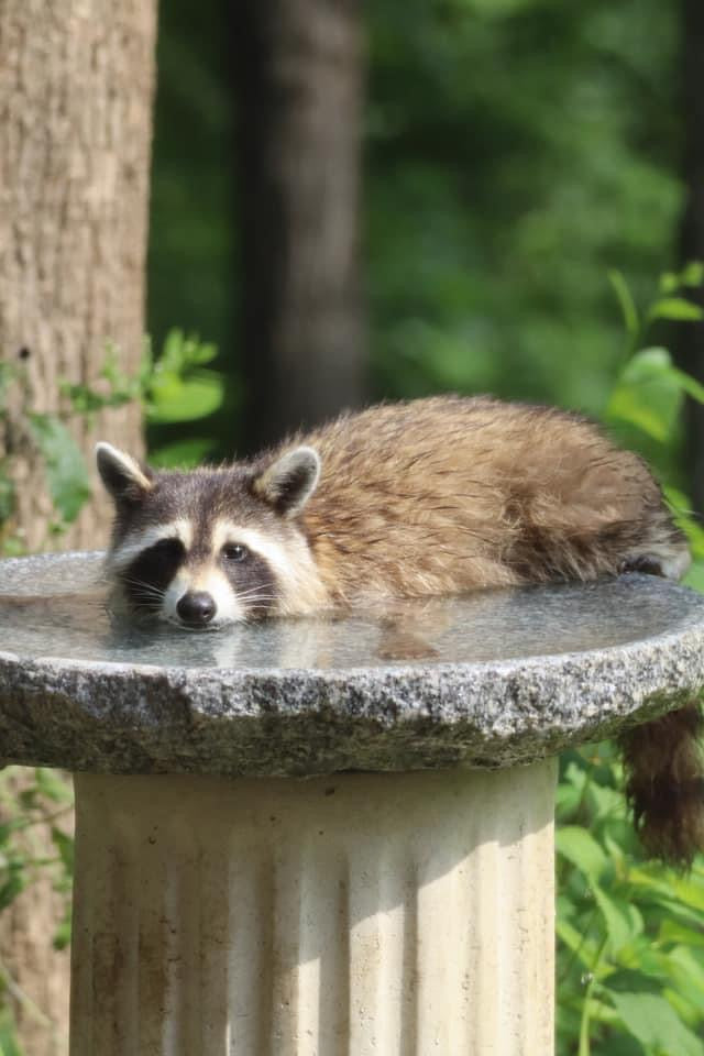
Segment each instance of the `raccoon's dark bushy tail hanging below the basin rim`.
[[703,728],[700,702],[692,700],[619,738],[626,794],[644,848],[681,868],[704,850]]

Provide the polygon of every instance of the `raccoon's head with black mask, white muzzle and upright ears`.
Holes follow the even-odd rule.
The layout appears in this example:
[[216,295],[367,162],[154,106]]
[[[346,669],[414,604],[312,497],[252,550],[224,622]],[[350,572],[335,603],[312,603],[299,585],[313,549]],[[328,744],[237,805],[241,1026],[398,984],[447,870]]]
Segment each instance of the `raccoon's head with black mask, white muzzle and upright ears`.
[[193,629],[324,604],[297,522],[320,473],[312,448],[190,472],[109,443],[96,455],[116,506],[107,570],[130,610]]

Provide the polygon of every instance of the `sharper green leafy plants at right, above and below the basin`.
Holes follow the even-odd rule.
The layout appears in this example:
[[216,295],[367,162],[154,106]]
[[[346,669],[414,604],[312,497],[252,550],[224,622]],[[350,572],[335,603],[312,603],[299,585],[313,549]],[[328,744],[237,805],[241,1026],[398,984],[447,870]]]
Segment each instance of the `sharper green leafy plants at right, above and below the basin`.
[[[627,359],[606,403],[610,431],[651,460],[667,485],[675,466],[685,395],[704,388],[648,346],[658,320],[701,319],[683,293],[704,268],[668,274],[639,311],[619,274]],[[640,348],[640,344],[645,348]],[[686,582],[704,586],[704,530],[686,496],[666,487],[694,561]],[[683,877],[645,861],[612,745],[568,752],[558,788],[559,1056],[704,1056],[704,860]]]

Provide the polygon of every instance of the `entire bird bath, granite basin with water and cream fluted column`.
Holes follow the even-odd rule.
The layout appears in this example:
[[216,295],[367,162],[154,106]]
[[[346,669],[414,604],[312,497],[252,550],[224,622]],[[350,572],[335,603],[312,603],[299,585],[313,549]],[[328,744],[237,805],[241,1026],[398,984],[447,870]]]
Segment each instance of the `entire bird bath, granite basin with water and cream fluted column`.
[[661,580],[210,634],[0,564],[0,755],[75,773],[72,1056],[549,1056],[554,757],[704,685]]

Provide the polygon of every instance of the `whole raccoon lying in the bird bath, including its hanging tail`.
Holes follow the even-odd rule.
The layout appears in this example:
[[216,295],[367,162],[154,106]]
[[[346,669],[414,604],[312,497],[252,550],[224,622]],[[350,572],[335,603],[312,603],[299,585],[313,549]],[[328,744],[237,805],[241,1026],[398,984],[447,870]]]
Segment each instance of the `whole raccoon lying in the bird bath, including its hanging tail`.
[[[191,628],[631,569],[676,579],[690,560],[637,455],[581,417],[484,397],[372,407],[193,472],[154,472],[99,444],[98,469],[116,503],[108,571],[120,596]],[[659,723],[673,758],[678,730],[692,748],[695,705]],[[636,816],[646,843],[688,860],[697,767],[670,761],[659,788],[646,747],[650,774],[628,741]]]

